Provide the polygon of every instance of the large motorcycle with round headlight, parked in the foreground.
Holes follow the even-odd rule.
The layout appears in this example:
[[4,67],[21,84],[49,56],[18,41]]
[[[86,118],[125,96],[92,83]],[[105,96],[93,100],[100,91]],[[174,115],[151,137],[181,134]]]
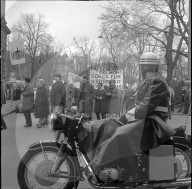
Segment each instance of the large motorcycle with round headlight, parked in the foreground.
[[[85,177],[93,188],[188,188],[191,185],[191,146],[184,127],[176,129],[171,144],[135,154],[141,179],[132,182],[131,171],[120,163],[111,162],[97,171],[91,167],[87,154],[78,146],[78,132],[86,119],[83,114],[50,116],[49,128],[58,132],[57,138],[28,147],[17,171],[21,189],[73,189]],[[64,137],[60,141],[61,134]]]

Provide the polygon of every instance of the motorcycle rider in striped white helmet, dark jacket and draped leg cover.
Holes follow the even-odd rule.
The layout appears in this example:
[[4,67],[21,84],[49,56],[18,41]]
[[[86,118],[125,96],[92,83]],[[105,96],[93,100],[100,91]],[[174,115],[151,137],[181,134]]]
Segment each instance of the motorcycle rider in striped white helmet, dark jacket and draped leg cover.
[[[100,151],[104,153],[99,154],[101,160],[106,158],[109,161],[114,157],[121,159],[124,167],[128,167],[128,171],[131,171],[131,182],[140,178],[138,162],[133,154],[153,149],[175,134],[175,131],[166,124],[170,95],[167,82],[159,73],[159,63],[159,57],[153,52],[146,52],[141,56],[139,66],[143,81],[134,95],[136,107],[120,118],[122,123],[129,122],[129,124],[117,130],[114,136],[102,145],[104,150]],[[126,145],[121,145],[119,141]],[[147,158],[145,161],[146,165],[149,165]],[[149,167],[146,168],[149,170]]]

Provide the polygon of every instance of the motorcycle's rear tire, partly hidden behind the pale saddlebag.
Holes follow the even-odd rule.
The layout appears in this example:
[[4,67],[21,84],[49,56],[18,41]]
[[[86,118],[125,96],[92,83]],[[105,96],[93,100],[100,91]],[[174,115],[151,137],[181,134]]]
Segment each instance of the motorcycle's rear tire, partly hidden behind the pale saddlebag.
[[185,157],[186,159],[187,172],[184,178],[191,177],[191,149],[181,144],[175,144],[176,157],[177,157],[177,152],[183,155],[183,157]]

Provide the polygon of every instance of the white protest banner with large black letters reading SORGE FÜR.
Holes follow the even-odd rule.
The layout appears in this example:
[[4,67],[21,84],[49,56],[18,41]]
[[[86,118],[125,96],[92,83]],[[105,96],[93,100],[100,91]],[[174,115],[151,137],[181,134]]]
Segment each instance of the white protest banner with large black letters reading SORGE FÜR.
[[90,83],[96,88],[98,83],[109,85],[110,80],[115,80],[119,89],[123,88],[123,70],[115,71],[98,71],[90,70]]

